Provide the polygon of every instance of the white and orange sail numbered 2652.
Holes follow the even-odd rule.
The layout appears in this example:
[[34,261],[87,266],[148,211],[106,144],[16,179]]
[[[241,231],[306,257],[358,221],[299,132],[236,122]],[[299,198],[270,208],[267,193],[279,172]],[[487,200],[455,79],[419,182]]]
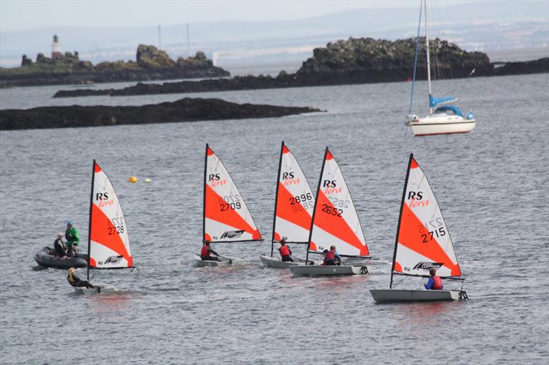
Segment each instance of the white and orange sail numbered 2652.
[[319,252],[335,245],[340,255],[369,255],[351,193],[327,147],[309,241],[311,251]]

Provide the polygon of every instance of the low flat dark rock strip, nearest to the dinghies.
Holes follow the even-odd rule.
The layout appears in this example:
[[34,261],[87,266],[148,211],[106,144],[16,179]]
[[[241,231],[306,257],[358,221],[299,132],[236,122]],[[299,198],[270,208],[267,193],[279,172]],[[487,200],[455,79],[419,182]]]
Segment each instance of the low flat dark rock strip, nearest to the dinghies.
[[173,103],[141,106],[72,105],[0,110],[0,130],[273,118],[319,111],[308,107],[237,104],[220,99],[186,98]]

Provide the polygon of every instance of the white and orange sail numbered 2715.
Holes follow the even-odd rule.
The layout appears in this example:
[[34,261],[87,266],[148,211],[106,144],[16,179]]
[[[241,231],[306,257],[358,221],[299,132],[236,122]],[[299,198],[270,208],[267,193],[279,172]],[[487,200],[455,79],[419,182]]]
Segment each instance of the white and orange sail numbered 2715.
[[436,268],[436,275],[440,277],[461,275],[439,203],[425,173],[410,154],[395,240],[393,272],[428,277],[431,268]]

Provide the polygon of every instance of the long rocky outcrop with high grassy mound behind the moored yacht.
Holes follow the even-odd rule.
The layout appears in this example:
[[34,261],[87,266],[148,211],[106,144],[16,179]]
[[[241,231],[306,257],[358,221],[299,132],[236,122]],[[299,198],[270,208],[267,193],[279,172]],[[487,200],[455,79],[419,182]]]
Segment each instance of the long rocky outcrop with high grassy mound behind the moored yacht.
[[[422,38],[421,42],[424,41]],[[496,67],[490,63],[485,53],[463,51],[445,40],[434,39],[430,46],[434,79],[549,73],[549,58],[530,62],[507,62]],[[54,97],[115,97],[406,81],[412,77],[414,71],[415,47],[416,40],[412,38],[395,41],[349,38],[329,43],[325,48],[314,49],[313,57],[303,62],[303,66],[295,74],[281,71],[277,77],[259,75],[164,84],[140,83],[123,89],[61,90]],[[417,79],[427,79],[425,63],[425,56],[420,55]]]

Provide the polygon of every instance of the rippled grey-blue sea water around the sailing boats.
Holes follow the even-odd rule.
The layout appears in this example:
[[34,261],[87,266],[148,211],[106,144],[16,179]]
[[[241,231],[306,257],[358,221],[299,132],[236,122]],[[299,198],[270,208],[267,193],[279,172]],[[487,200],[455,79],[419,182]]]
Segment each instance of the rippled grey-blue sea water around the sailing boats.
[[[0,106],[184,97],[49,99],[60,88],[0,90]],[[549,75],[436,82],[436,95],[456,95],[465,111],[476,112],[477,127],[465,135],[405,134],[409,90],[394,83],[185,95],[327,112],[1,132],[0,362],[546,364]],[[425,84],[418,90],[415,110],[424,112]],[[270,250],[281,140],[313,187],[331,147],[374,257],[370,275],[301,278],[261,267],[259,255]],[[200,249],[206,142],[266,238],[215,245],[242,258],[229,268],[192,262]],[[467,277],[467,302],[378,305],[369,294],[388,288],[410,152],[443,210]],[[93,158],[119,193],[137,268],[93,273],[120,291],[84,296],[64,270],[37,268],[32,257],[67,219],[86,242]],[[130,175],[140,182],[126,182]],[[146,177],[151,184],[141,182]]]

